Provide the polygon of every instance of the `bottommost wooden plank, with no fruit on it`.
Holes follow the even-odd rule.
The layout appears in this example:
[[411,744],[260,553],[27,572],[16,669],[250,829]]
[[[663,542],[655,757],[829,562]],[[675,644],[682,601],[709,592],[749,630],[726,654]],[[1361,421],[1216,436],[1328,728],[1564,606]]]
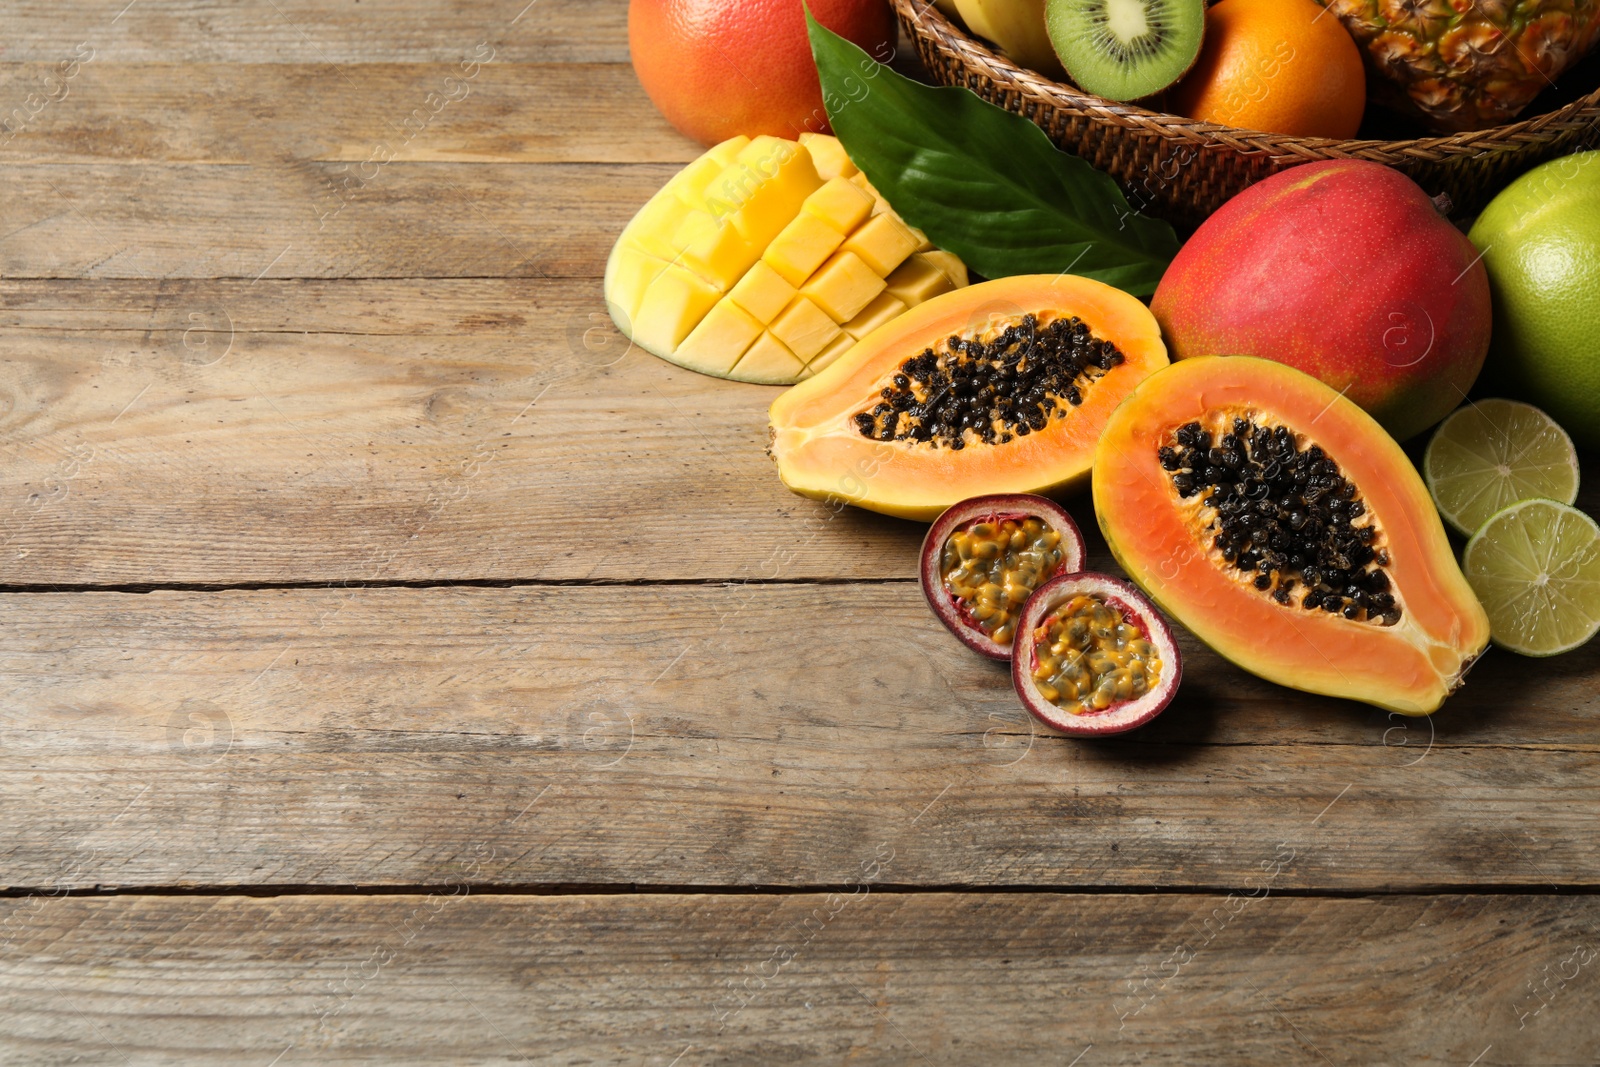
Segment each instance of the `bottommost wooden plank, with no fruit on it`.
[[[862,856],[893,875],[894,849]],[[1578,1064],[1594,897],[0,904],[8,1064]],[[274,1061],[274,1057],[278,1057]]]

